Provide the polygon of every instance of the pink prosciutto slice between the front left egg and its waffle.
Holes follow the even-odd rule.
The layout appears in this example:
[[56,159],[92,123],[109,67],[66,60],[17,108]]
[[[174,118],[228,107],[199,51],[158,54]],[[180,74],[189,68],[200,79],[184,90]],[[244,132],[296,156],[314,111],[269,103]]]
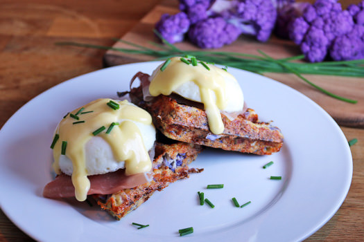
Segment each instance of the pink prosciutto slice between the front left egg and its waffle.
[[[113,194],[121,189],[137,187],[141,184],[148,183],[148,174],[140,173],[132,176],[125,176],[125,169],[119,169],[102,175],[87,176],[91,187],[87,195],[91,194]],[[43,196],[46,198],[69,198],[75,196],[71,176],[60,174],[43,190]]]

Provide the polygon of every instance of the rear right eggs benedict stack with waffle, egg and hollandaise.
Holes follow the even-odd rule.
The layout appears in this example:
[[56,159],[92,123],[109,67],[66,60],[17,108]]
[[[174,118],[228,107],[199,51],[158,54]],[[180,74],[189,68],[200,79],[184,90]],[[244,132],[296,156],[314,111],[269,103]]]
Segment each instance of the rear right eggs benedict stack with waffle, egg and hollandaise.
[[277,127],[246,109],[239,83],[224,68],[173,57],[152,75],[137,73],[130,86],[137,77],[141,85],[130,90],[132,102],[146,109],[168,138],[259,155],[283,144]]

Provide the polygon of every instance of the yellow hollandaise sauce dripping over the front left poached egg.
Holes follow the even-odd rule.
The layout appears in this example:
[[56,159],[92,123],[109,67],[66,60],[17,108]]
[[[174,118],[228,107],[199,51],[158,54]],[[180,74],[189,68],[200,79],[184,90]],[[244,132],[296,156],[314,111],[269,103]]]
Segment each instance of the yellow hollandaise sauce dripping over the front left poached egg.
[[[119,121],[122,120],[122,121]],[[125,161],[125,174],[130,176],[150,171],[152,162],[144,147],[141,132],[134,122],[152,124],[150,114],[127,100],[99,99],[68,113],[55,130],[53,169],[60,174],[60,156],[73,165],[72,183],[78,201],[85,201],[90,188],[85,163],[85,144],[100,136],[111,147],[116,160]]]

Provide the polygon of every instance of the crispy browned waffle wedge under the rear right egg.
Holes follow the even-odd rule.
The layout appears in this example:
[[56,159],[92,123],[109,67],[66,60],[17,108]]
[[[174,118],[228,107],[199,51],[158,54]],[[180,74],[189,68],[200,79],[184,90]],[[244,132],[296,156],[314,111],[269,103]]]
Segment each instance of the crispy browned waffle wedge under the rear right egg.
[[[137,77],[141,80],[141,85],[132,89],[132,82]],[[188,100],[174,98],[172,95],[159,95],[144,100],[143,89],[148,86],[148,77],[148,74],[140,72],[133,77],[130,99],[152,115],[155,127],[164,136],[182,142],[258,155],[269,155],[281,149],[281,131],[270,123],[259,122],[253,109],[246,109],[234,120],[221,114],[225,130],[215,135],[209,130],[205,111],[200,106],[192,106]]]

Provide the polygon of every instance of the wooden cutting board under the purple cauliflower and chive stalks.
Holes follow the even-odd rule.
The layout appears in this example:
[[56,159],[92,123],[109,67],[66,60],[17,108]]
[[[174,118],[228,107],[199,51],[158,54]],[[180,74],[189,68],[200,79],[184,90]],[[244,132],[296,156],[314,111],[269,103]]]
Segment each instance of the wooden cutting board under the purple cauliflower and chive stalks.
[[[150,44],[150,41],[158,41],[158,39],[153,34],[155,23],[159,20],[162,14],[173,14],[175,12],[178,12],[177,1],[164,0],[155,8],[150,10],[150,12],[148,12],[148,14],[143,19],[141,19],[141,21],[139,21],[139,23],[134,26],[134,28],[123,35],[121,39],[149,48],[155,48],[152,44]],[[187,41],[175,44],[175,46],[181,48],[182,50],[197,49]],[[131,48],[130,46],[119,41],[114,44],[114,47]],[[276,37],[271,37],[267,43],[260,43],[259,41],[256,41],[250,37],[241,36],[233,44],[224,46],[219,50],[259,55],[257,53],[258,49],[263,50],[265,53],[275,58],[300,55],[300,48],[295,46],[293,42],[277,39]],[[105,66],[115,66],[132,62],[144,62],[148,60],[153,60],[153,57],[144,55],[129,55],[116,52],[114,50],[108,50],[104,56]],[[347,127],[364,128],[364,78],[305,75],[305,77],[311,82],[317,84],[318,86],[322,86],[322,88],[327,89],[332,93],[358,100],[358,103],[356,104],[349,104],[347,102],[342,102],[320,93],[293,74],[265,73],[264,75],[291,86],[293,89],[296,89],[297,91],[300,91],[307,97],[311,98],[311,100],[322,106],[322,108],[325,109],[331,115],[331,117],[333,117],[333,119],[338,122],[338,124]],[[287,102],[289,102],[289,100],[287,100]],[[314,119],[314,117],[312,118]]]

